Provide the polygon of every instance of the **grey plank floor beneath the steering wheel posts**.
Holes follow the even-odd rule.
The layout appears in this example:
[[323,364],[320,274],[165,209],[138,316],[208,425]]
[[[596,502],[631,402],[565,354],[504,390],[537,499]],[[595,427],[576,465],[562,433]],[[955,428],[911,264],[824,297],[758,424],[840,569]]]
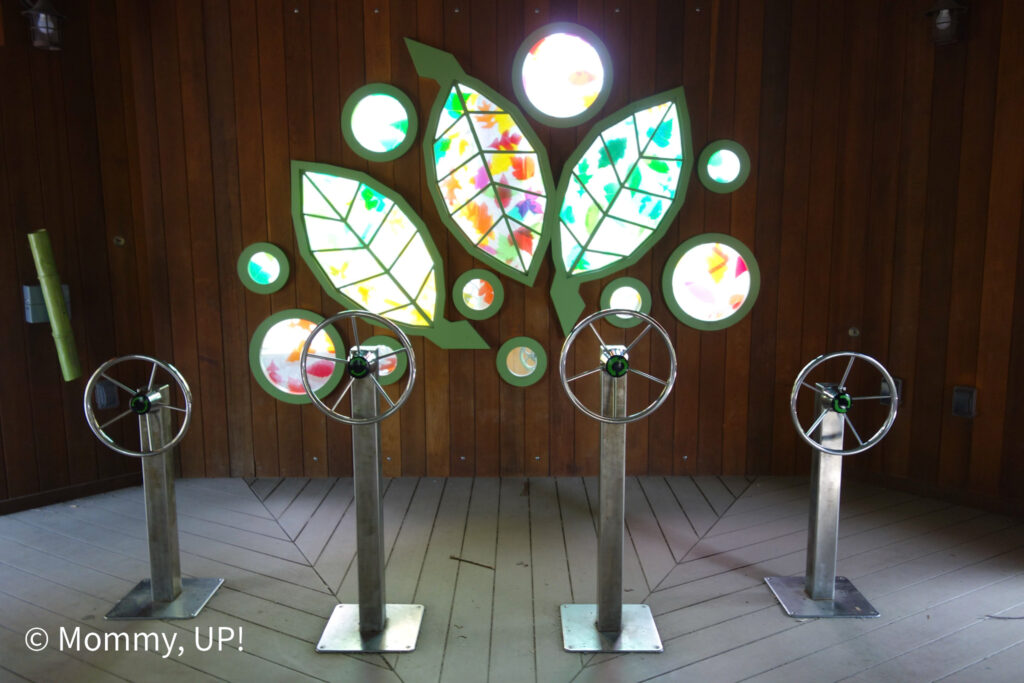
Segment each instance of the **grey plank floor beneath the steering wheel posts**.
[[[806,479],[628,479],[625,599],[651,606],[665,651],[567,653],[559,605],[594,601],[595,494],[579,478],[388,480],[388,599],[426,612],[416,651],[387,656],[313,651],[355,598],[350,479],[178,481],[182,569],[225,579],[187,622],[103,620],[148,574],[139,488],[0,517],[0,680],[1022,679],[1024,520],[848,486],[840,573],[882,616],[797,621],[763,579],[803,572]],[[241,629],[241,650],[201,651],[219,627]],[[61,629],[79,651],[58,650]],[[176,646],[84,648],[118,633]]]

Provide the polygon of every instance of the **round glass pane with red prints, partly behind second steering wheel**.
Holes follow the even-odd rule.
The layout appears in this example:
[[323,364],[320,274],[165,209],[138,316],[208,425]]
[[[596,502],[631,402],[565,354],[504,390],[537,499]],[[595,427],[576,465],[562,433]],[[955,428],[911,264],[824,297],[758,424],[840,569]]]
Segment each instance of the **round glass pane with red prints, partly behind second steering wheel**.
[[[306,392],[299,373],[299,356],[302,354],[302,345],[315,327],[316,324],[310,321],[290,317],[274,324],[263,336],[259,349],[260,370],[273,386],[285,393]],[[335,355],[334,342],[322,330],[309,345],[309,352]],[[334,364],[330,360],[309,358],[306,362],[306,374],[313,391],[327,384],[333,373]]]

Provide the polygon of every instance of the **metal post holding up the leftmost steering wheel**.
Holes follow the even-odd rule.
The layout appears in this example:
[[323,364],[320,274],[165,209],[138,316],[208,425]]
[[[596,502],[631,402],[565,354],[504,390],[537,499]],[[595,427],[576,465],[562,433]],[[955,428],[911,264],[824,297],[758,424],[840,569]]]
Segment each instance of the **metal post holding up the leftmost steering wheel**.
[[[155,405],[167,405],[170,387],[150,396]],[[142,443],[155,450],[171,436],[171,412],[157,410],[138,418]],[[178,517],[174,501],[174,451],[142,458],[142,490],[150,531],[150,577],[153,601],[173,602],[181,594],[181,560],[178,554]]]

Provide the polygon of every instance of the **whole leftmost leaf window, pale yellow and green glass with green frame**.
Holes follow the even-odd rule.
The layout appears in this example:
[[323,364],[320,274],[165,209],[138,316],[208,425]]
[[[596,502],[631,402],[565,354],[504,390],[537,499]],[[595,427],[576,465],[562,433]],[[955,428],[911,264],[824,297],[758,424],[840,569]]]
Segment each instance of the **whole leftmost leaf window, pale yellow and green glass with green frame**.
[[487,348],[444,314],[444,266],[423,219],[393,189],[349,169],[292,161],[299,251],[328,294],[441,348]]

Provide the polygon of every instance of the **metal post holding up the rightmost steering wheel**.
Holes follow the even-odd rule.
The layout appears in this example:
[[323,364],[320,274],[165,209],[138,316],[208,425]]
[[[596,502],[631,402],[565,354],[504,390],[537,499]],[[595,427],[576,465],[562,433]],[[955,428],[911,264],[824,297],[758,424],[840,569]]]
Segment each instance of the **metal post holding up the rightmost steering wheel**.
[[[836,385],[824,386],[835,393]],[[826,449],[843,450],[843,415],[831,410],[831,401],[818,397],[818,442]],[[811,461],[811,514],[807,528],[807,573],[805,588],[814,600],[836,597],[836,557],[839,546],[839,499],[843,478],[843,456],[821,451]]]

